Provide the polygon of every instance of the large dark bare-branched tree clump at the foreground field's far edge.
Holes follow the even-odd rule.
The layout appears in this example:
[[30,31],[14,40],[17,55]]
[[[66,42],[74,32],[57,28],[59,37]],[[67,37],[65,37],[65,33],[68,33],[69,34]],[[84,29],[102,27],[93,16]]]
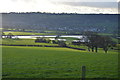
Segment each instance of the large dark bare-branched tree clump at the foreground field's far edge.
[[109,36],[101,36],[94,32],[86,32],[86,46],[88,46],[88,50],[92,50],[92,52],[98,52],[98,48],[103,48],[105,53],[107,53],[108,49],[114,46],[116,43],[112,41]]

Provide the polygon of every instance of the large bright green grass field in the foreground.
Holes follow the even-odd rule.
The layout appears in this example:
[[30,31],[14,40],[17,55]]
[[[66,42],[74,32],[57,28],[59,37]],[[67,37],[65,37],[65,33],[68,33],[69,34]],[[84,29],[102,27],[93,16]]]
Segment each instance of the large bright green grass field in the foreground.
[[3,46],[3,78],[117,78],[118,53],[68,48]]

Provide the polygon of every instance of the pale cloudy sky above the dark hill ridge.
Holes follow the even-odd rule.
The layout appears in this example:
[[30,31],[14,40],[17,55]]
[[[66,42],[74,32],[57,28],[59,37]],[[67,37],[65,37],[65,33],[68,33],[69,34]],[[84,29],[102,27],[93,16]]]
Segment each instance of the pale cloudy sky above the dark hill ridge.
[[120,0],[0,0],[2,12],[118,13]]

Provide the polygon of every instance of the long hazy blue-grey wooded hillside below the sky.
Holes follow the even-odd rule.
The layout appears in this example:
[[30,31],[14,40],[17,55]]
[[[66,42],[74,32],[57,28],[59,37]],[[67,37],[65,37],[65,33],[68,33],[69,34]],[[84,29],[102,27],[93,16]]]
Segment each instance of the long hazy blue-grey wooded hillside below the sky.
[[3,28],[97,31],[113,33],[118,29],[117,14],[2,13]]

